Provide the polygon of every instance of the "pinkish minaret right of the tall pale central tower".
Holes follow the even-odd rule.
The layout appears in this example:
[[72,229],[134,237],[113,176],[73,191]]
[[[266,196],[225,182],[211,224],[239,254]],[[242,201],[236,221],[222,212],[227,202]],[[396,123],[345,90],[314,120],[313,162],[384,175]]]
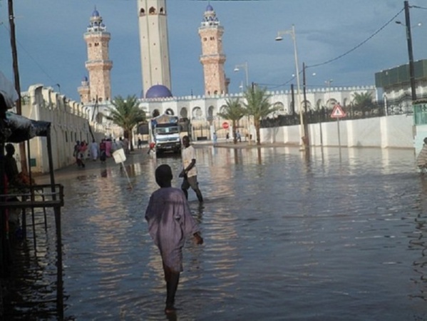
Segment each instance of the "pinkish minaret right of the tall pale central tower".
[[222,34],[224,28],[220,26],[214,9],[207,5],[202,26],[199,28],[202,41],[202,55],[200,62],[205,74],[205,94],[220,95],[228,93],[228,83],[225,78],[225,54],[222,53]]

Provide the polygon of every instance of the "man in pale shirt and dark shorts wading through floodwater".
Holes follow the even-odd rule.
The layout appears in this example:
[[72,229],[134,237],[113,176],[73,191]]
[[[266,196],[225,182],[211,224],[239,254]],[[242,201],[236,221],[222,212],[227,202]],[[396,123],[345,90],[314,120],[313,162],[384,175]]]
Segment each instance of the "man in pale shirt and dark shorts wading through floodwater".
[[192,188],[197,195],[197,200],[203,203],[202,192],[199,189],[199,183],[197,182],[197,168],[196,168],[196,156],[194,147],[190,146],[190,138],[188,136],[182,137],[182,172],[180,177],[184,178],[181,189],[185,194],[185,198],[188,199],[188,188]]

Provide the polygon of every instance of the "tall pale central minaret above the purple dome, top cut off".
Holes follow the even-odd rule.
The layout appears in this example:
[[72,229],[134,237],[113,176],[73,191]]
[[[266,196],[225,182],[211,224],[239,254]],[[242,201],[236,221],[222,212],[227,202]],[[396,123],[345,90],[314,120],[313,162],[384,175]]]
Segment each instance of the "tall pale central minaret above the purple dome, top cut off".
[[155,85],[172,91],[166,1],[138,0],[138,22],[144,97]]

